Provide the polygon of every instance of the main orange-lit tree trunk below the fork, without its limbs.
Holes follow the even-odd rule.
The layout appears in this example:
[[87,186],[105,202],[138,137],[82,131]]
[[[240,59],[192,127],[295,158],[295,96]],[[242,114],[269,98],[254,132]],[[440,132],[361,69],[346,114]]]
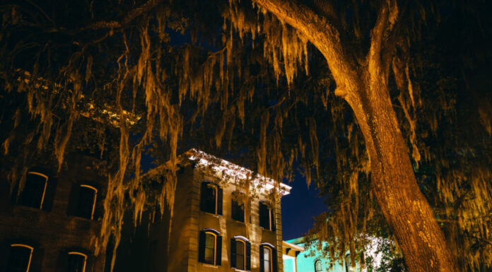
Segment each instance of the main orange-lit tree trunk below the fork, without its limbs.
[[[365,77],[368,78],[368,77]],[[370,156],[371,188],[411,272],[458,271],[428,201],[415,179],[387,83],[361,84],[345,99],[363,132]]]

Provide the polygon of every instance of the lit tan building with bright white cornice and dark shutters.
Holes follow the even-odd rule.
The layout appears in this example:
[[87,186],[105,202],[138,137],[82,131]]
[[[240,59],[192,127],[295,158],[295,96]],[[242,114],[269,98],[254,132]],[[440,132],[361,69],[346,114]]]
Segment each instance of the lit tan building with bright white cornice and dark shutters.
[[[165,165],[144,178],[159,179],[163,172]],[[146,271],[156,272],[283,271],[281,206],[271,203],[269,195],[275,187],[286,195],[291,187],[255,176],[247,218],[235,196],[247,175],[253,173],[197,150],[183,155],[169,238],[168,215],[151,219],[148,227],[143,222],[131,241],[122,241],[115,270],[134,271],[136,266],[127,261],[132,256],[146,264]]]

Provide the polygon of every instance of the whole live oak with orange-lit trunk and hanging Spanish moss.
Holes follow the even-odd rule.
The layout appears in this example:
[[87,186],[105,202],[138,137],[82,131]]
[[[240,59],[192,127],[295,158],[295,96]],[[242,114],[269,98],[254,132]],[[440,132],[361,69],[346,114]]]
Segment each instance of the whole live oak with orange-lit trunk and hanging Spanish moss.
[[[256,170],[275,179],[288,176],[296,160],[302,161],[308,180],[321,179],[326,160],[320,150],[334,139],[337,179],[348,188],[348,200],[375,199],[377,205],[369,206],[384,215],[409,270],[459,270],[457,254],[446,244],[414,175],[419,163],[441,161],[418,146],[416,109],[425,90],[412,83],[418,62],[410,54],[423,23],[434,23],[440,8],[453,7],[413,1],[55,2],[1,6],[1,84],[8,93],[24,94],[26,101],[8,106],[13,122],[3,121],[11,118],[6,114],[2,126],[11,132],[1,140],[6,154],[14,142],[22,143],[23,153],[51,145],[61,167],[82,117],[119,129],[117,170],[108,174],[98,247],[111,235],[118,244],[126,200],[134,206],[135,220],[144,203],[172,206],[177,150],[199,143],[192,136],[205,135],[209,127],[204,124],[216,116],[213,138],[201,146],[220,147],[224,137],[233,141],[237,131],[246,131]],[[396,88],[389,84],[393,81]],[[330,89],[339,99],[329,95]],[[392,90],[399,91],[400,118]],[[449,100],[440,102],[446,107]],[[313,109],[318,110],[307,115]],[[23,138],[19,130],[25,112],[35,126]],[[351,114],[357,125],[347,121]],[[491,116],[487,110],[480,114],[484,120]],[[490,136],[490,122],[484,125]],[[345,153],[336,142],[339,134],[351,145]],[[171,171],[159,194],[147,194],[139,179],[141,153],[156,143],[164,144],[153,150],[161,153],[160,162],[170,160]],[[353,166],[348,175],[347,165]],[[484,231],[490,221],[470,223],[473,216],[491,211],[491,175],[484,168],[467,179],[472,189],[463,197],[467,206],[459,220],[464,224],[452,233],[479,228],[481,236],[490,237]],[[9,172],[12,184],[23,176],[21,167]],[[464,172],[459,174],[464,180]],[[452,179],[436,179],[444,202],[454,202],[464,184]],[[365,187],[358,189],[359,183]],[[343,204],[334,226],[353,219],[354,209],[363,210],[350,206],[351,201]],[[372,216],[369,206],[365,219]],[[336,236],[355,250],[350,240],[358,229],[347,229]],[[462,267],[474,271],[491,258],[476,256]]]

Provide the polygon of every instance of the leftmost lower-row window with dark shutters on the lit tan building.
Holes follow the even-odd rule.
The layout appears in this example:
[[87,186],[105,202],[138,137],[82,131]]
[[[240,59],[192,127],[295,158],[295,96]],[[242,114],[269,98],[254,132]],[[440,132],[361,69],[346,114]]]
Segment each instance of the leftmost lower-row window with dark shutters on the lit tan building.
[[218,231],[212,229],[202,230],[199,237],[198,261],[213,266],[221,265],[222,237]]

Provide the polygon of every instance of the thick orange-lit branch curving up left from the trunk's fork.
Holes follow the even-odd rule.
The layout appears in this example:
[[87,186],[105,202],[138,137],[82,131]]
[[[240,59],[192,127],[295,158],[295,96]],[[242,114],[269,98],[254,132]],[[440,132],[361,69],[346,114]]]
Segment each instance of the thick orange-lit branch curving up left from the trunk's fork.
[[356,86],[352,86],[358,78],[356,62],[341,43],[341,30],[307,6],[293,0],[254,0],[254,2],[301,32],[320,50],[327,59],[329,69],[338,85],[337,95],[344,96],[346,90],[357,89]]

